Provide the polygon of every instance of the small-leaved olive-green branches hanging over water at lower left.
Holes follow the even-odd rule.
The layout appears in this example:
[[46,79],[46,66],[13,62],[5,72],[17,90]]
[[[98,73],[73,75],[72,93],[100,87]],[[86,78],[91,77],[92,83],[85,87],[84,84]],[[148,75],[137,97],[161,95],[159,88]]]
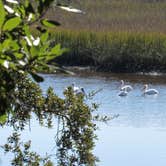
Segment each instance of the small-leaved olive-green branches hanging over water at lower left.
[[[94,132],[97,127],[94,119],[104,121],[104,118],[92,115],[97,109],[96,105],[88,106],[85,97],[75,95],[72,87],[64,91],[63,99],[58,97],[52,88],[49,88],[43,96],[39,86],[30,78],[24,76],[21,78],[13,92],[13,100],[8,106],[10,110],[8,118],[3,125],[12,126],[15,131],[24,130],[32,113],[36,115],[41,125],[47,127],[51,127],[52,121],[58,118],[59,127],[55,135],[58,165],[95,165],[97,158],[92,150],[95,146]],[[14,139],[16,144],[11,142],[11,139]],[[38,165],[43,161],[38,154],[30,152],[30,144],[28,148],[25,147],[27,143],[24,144],[26,150],[21,150],[23,143],[19,143],[18,134],[15,133],[8,141],[3,148],[5,152],[16,154],[13,159],[15,165],[23,163],[33,165],[33,162]]]

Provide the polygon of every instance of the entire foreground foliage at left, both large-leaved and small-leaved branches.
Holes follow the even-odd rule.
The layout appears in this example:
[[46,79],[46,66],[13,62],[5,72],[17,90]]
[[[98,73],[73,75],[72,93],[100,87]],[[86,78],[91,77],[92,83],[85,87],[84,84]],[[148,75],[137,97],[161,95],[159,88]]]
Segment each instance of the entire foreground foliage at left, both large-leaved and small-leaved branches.
[[[33,114],[47,127],[58,119],[56,165],[95,165],[97,158],[92,150],[97,127],[94,120],[105,121],[107,118],[100,119],[92,114],[97,109],[96,104],[86,104],[86,99],[93,93],[85,98],[69,86],[60,98],[52,88],[43,95],[37,84],[44,81],[37,73],[38,69],[48,67],[48,61],[65,51],[60,44],[53,44],[47,30],[60,24],[43,18],[52,3],[53,0],[33,3],[0,0],[0,127],[7,125],[14,131],[0,148],[13,154],[13,166],[53,165],[50,157],[31,151],[30,141],[24,143],[21,140],[21,132]],[[36,34],[32,33],[32,25],[35,25]]]

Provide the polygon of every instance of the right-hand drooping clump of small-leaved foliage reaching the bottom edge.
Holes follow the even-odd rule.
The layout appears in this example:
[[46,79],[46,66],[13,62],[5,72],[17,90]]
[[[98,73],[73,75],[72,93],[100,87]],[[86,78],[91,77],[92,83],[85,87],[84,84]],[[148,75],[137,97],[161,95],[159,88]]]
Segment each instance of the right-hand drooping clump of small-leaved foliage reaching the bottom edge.
[[57,135],[59,165],[95,165],[93,155],[96,135],[92,112],[95,110],[84,103],[84,96],[76,96],[69,87],[65,92],[65,108],[59,116]]

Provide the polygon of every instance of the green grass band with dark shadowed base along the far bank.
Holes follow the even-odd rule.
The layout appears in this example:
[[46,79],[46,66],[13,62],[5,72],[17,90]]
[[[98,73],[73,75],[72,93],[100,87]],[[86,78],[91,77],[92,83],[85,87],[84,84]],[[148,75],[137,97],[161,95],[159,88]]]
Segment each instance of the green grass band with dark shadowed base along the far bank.
[[159,33],[56,31],[55,43],[70,48],[62,65],[95,66],[100,71],[166,71],[166,35]]

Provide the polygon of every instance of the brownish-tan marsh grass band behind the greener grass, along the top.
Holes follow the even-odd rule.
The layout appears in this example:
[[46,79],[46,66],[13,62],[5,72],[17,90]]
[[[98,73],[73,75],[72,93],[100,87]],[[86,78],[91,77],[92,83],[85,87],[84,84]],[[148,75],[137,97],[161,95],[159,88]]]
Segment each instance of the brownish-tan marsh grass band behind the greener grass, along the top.
[[86,14],[52,8],[47,17],[63,28],[91,31],[166,32],[166,0],[72,0]]

